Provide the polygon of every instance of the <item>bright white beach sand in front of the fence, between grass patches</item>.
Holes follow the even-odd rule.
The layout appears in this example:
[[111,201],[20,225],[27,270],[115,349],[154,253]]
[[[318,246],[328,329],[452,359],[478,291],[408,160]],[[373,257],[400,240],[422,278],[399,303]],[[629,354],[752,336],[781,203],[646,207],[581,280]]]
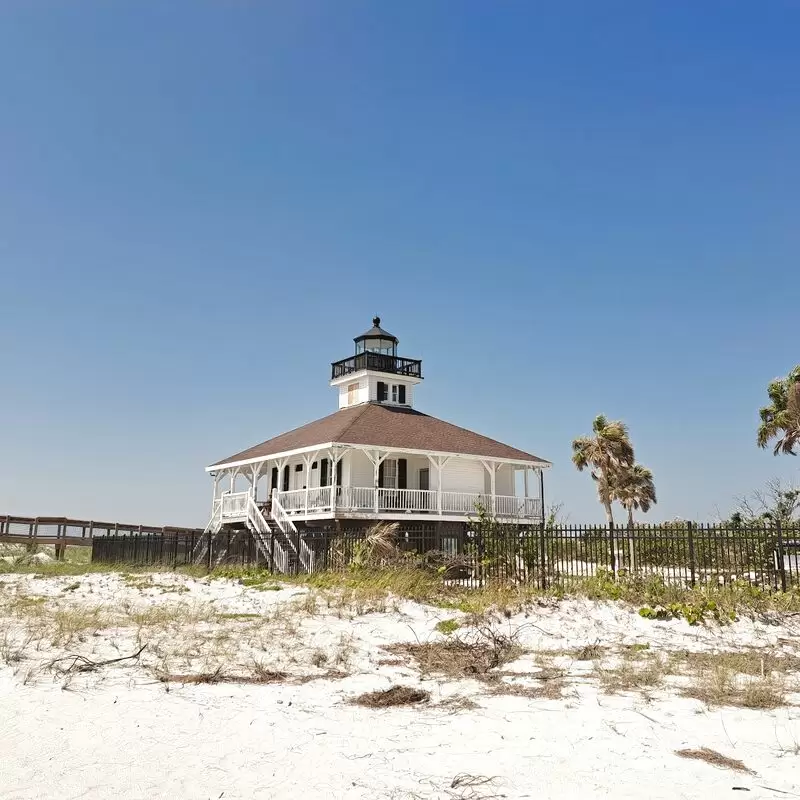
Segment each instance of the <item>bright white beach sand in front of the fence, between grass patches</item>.
[[[134,581],[136,582],[136,581]],[[606,695],[586,679],[591,664],[567,664],[561,700],[490,695],[478,681],[422,680],[413,664],[386,665],[382,646],[439,636],[458,612],[398,602],[383,613],[303,610],[306,590],[257,591],[232,581],[158,574],[145,588],[117,575],[35,579],[0,575],[0,643],[21,642],[25,622],[3,616],[19,594],[48,609],[101,605],[111,612],[182,604],[198,614],[266,614],[145,628],[140,663],[121,662],[65,680],[43,666],[58,655],[93,660],[137,649],[136,629],[89,632],[83,641],[31,642],[0,666],[0,797],[31,798],[748,798],[800,797],[800,708],[709,710],[676,690]],[[76,589],[67,589],[79,583]],[[210,605],[209,605],[210,604]],[[620,604],[565,601],[500,623],[530,650],[649,643],[653,649],[770,646],[800,650],[797,617],[740,620],[722,628],[652,622]],[[216,638],[215,638],[216,637]],[[185,658],[192,642],[202,639]],[[315,666],[323,653],[327,664]],[[337,665],[335,662],[339,660]],[[179,685],[154,669],[188,673],[254,661],[293,676],[344,678],[271,685]],[[2,660],[0,659],[0,664]],[[506,667],[535,671],[531,656]],[[525,680],[521,678],[520,680]],[[528,679],[529,680],[529,679]],[[374,710],[345,701],[392,684],[422,686],[425,706]],[[441,703],[468,696],[453,711]],[[790,700],[800,703],[800,696]],[[709,747],[741,759],[740,774],[678,758]],[[468,774],[491,783],[465,785]],[[455,784],[455,785],[454,785]]]

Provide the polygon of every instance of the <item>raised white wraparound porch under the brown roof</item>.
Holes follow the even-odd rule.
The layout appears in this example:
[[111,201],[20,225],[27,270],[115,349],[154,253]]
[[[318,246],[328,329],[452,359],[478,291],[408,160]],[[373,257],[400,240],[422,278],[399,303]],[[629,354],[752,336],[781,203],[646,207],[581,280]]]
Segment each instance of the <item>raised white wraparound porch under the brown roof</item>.
[[465,522],[479,509],[521,524],[543,518],[542,467],[510,459],[331,444],[212,475],[215,500],[246,489],[298,521]]

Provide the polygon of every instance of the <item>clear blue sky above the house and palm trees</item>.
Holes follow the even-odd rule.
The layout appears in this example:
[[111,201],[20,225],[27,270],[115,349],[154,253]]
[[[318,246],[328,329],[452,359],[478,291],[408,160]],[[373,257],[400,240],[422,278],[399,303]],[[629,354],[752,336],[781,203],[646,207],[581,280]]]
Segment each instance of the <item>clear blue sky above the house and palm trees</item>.
[[0,8],[0,513],[202,524],[379,313],[422,410],[554,462],[624,419],[710,519],[800,362],[793,2]]

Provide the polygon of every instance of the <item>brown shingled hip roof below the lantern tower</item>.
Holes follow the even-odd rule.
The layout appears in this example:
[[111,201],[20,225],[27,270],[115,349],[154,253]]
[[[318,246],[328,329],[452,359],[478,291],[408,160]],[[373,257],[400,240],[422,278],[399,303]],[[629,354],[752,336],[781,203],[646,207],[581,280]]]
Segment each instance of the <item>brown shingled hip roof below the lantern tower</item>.
[[398,447],[407,450],[433,450],[438,453],[463,453],[485,458],[548,462],[502,442],[459,428],[444,420],[411,408],[364,403],[337,411],[282,433],[274,439],[217,461],[211,466],[264,458],[315,444],[361,444]]

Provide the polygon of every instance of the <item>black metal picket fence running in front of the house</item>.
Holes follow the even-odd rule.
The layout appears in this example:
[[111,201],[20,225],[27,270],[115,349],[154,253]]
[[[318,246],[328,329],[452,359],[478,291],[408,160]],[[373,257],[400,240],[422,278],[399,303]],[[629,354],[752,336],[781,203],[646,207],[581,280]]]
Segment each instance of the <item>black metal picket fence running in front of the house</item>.
[[[434,541],[397,535],[388,551],[370,550],[364,529],[307,531],[300,535],[262,537],[267,552],[288,548],[291,571],[341,571],[354,564],[409,563],[436,571],[464,586],[487,581],[568,587],[575,581],[609,576],[660,576],[665,583],[698,586],[744,581],[786,590],[800,586],[800,525],[733,526],[680,523],[637,526],[629,530],[598,526],[519,527],[472,525],[447,552]],[[425,543],[424,548],[420,545]],[[210,543],[210,546],[209,546]],[[426,552],[423,552],[426,551]],[[309,555],[311,557],[309,559]],[[247,532],[153,532],[95,538],[92,560],[139,565],[181,566],[197,563],[261,566],[270,559]]]

